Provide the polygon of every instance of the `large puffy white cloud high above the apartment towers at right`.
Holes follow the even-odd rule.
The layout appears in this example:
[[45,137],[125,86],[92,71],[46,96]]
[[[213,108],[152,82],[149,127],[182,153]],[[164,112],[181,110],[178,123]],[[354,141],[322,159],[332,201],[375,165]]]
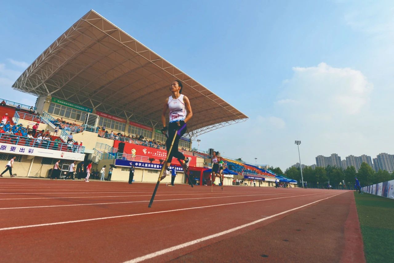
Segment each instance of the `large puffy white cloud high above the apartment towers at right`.
[[[355,115],[366,108],[373,85],[361,71],[335,68],[320,63],[316,67],[294,67],[294,75],[283,86],[278,103],[301,114],[301,118],[338,118]],[[297,105],[290,102],[297,101]]]

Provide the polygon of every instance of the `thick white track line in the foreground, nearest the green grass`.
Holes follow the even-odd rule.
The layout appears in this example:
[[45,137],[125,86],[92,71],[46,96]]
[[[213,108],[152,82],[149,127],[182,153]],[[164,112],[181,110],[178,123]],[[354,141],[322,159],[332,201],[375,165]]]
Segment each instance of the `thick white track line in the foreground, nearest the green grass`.
[[[343,194],[343,193],[339,193],[339,194]],[[334,195],[334,196],[337,196],[337,195],[339,195],[339,194],[336,194],[336,195]],[[248,226],[255,225],[255,224],[257,224],[257,223],[260,223],[260,222],[262,222],[262,221],[268,220],[268,219],[273,218],[273,217],[275,217],[275,216],[279,216],[279,215],[283,215],[283,214],[286,214],[286,213],[291,212],[291,211],[295,211],[295,210],[297,210],[297,209],[306,207],[306,206],[308,206],[308,205],[312,205],[312,204],[314,204],[314,203],[317,203],[317,202],[320,202],[320,201],[329,199],[329,198],[334,197],[334,196],[329,196],[329,197],[327,197],[327,198],[323,198],[323,199],[320,199],[320,200],[317,200],[317,201],[314,201],[314,202],[311,202],[311,203],[307,203],[306,205],[301,205],[301,206],[299,206],[299,207],[296,207],[296,208],[293,208],[293,209],[289,209],[289,210],[283,211],[283,212],[281,212],[281,213],[277,213],[277,214],[275,214],[275,215],[267,216],[267,217],[258,219],[258,220],[256,220],[256,221],[253,221],[253,222],[250,222],[250,223],[247,223],[247,224],[243,224],[243,225],[241,225],[241,226],[237,226],[237,227],[235,227],[235,228],[230,228],[230,229],[227,229],[227,230],[225,230],[225,231],[221,231],[221,232],[216,233],[216,234],[213,234],[213,235],[209,235],[209,236],[206,236],[206,237],[202,237],[202,238],[199,238],[199,239],[195,239],[195,240],[193,240],[193,241],[185,242],[185,243],[179,244],[179,245],[177,245],[177,246],[171,246],[170,248],[165,248],[165,249],[163,249],[163,250],[159,250],[159,251],[153,252],[153,253],[151,253],[151,254],[147,254],[147,255],[145,255],[145,256],[136,257],[136,258],[131,259],[131,260],[129,260],[129,261],[125,261],[125,263],[137,263],[137,262],[141,262],[141,261],[144,261],[144,260],[147,260],[147,259],[151,259],[151,258],[153,258],[153,257],[157,257],[157,256],[160,256],[160,255],[163,255],[163,254],[167,254],[167,253],[169,253],[169,252],[173,252],[173,251],[175,251],[175,250],[179,250],[179,249],[181,249],[181,248],[185,248],[185,247],[187,247],[187,246],[192,246],[192,245],[194,245],[194,244],[197,244],[197,243],[200,243],[200,242],[209,240],[209,239],[213,239],[213,238],[215,238],[215,237],[220,237],[220,236],[222,236],[222,235],[229,234],[229,233],[234,232],[234,231],[237,231],[237,230],[239,230],[239,229],[242,229],[242,228],[246,228],[246,227],[248,227]]]

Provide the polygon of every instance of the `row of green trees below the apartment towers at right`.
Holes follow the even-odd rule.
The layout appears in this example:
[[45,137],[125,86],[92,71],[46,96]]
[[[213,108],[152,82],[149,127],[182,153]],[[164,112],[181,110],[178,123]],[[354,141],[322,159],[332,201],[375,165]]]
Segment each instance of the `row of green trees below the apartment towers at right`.
[[[272,171],[274,170],[279,172],[280,168],[279,170],[275,168]],[[353,186],[355,183],[354,177],[359,179],[362,186],[373,185],[375,183],[381,183],[394,179],[394,173],[389,173],[385,170],[379,170],[375,172],[372,167],[365,162],[361,164],[358,172],[356,172],[354,166],[349,166],[346,169],[338,168],[336,166],[327,166],[326,168],[316,167],[315,169],[312,169],[311,166],[306,166],[302,170],[302,174],[304,181],[307,181],[308,184],[323,184],[323,186],[325,186],[328,181],[330,181],[330,185],[339,185],[339,183],[342,183],[342,180],[345,181],[346,185],[349,184],[350,186]],[[299,168],[288,168],[284,172],[284,175],[301,182],[301,171]]]

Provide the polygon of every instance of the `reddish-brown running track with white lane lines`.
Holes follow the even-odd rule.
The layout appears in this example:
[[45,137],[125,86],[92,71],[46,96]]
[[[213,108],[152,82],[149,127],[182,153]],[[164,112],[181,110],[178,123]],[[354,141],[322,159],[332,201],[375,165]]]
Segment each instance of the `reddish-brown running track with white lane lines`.
[[[153,188],[1,178],[2,261],[333,262],[349,258],[344,244],[359,238],[344,231],[354,206],[349,191],[229,186],[211,192],[162,184],[149,209]],[[302,247],[310,251],[296,249]]]

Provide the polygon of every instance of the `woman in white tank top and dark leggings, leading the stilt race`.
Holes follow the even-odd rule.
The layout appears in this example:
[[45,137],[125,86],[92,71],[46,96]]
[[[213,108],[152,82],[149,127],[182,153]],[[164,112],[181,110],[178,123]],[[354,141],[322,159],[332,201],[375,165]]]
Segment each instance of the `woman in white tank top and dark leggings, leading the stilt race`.
[[[175,80],[171,84],[170,87],[171,96],[165,99],[165,104],[162,112],[162,133],[168,131],[168,138],[165,142],[167,146],[167,162],[164,164],[164,174],[161,179],[164,179],[167,175],[171,175],[169,170],[169,166],[171,166],[172,158],[175,157],[180,161],[184,161],[186,167],[189,167],[190,164],[190,157],[186,158],[183,153],[178,151],[179,139],[182,137],[183,134],[186,132],[186,123],[191,119],[193,116],[193,112],[191,111],[190,101],[188,97],[182,94],[182,82],[180,80]],[[165,121],[165,114],[169,110],[169,124],[168,127]],[[169,153],[169,148],[171,147],[171,143],[173,138],[175,137],[175,141],[171,152]]]

